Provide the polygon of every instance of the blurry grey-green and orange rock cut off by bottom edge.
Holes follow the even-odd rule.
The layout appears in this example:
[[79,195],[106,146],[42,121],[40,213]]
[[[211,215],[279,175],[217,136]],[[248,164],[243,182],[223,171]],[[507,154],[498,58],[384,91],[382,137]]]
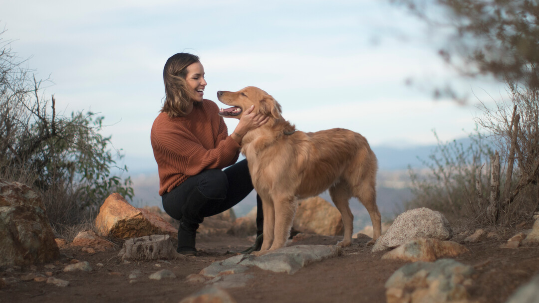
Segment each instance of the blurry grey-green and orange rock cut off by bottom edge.
[[467,302],[473,267],[452,259],[404,265],[385,283],[388,303]]

